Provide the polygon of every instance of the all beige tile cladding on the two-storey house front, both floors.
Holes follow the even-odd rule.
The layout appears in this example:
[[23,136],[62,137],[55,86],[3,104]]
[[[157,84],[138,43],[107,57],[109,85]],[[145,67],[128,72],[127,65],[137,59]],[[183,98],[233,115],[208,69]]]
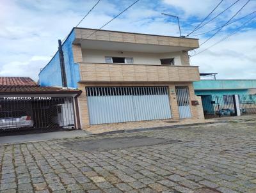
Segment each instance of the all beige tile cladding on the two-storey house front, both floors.
[[[72,51],[74,62],[79,65],[81,81],[77,83],[78,89],[83,91],[78,98],[81,128],[86,129],[90,127],[85,89],[89,86],[168,86],[172,120],[179,120],[179,124],[182,123],[182,120],[180,120],[179,116],[175,86],[188,86],[189,100],[198,100],[199,105],[191,105],[190,102],[192,118],[189,118],[189,121],[184,122],[198,123],[198,121],[204,121],[201,99],[200,97],[195,96],[193,88],[193,81],[200,80],[198,66],[190,66],[188,56],[188,50],[198,47],[198,40],[115,31],[97,31],[97,33],[95,33],[95,29],[81,28],[75,28],[75,33],[76,40],[73,42]],[[136,43],[136,45],[142,44],[143,46],[160,45],[164,47],[169,46],[170,48],[172,47],[172,49],[173,47],[179,47],[179,49],[182,50],[180,51],[181,65],[163,66],[157,64],[148,65],[147,63],[124,65],[84,62],[82,52],[83,46],[81,46],[83,40],[102,41],[101,43],[104,43],[104,41]],[[133,122],[129,123],[130,127],[132,123]],[[125,127],[125,124],[127,123],[114,124],[118,124],[117,127],[120,127],[120,124],[124,124]],[[136,122],[134,122],[134,127],[135,125]],[[94,127],[91,127],[92,130]],[[106,127],[106,125],[104,127]],[[113,125],[111,127],[113,127]]]

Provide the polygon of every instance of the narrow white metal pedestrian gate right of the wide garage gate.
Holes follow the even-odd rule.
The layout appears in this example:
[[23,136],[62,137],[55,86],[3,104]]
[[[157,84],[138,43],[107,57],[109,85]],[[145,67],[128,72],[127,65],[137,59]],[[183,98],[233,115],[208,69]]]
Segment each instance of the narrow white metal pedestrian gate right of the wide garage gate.
[[189,89],[184,87],[176,87],[176,95],[180,118],[191,118]]

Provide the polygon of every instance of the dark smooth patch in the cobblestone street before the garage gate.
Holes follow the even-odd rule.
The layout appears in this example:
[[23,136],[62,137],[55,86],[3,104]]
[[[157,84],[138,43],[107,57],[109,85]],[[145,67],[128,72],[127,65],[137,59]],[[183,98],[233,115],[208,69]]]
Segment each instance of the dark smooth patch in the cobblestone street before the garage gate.
[[115,137],[105,139],[80,140],[60,143],[61,146],[73,150],[93,151],[93,150],[116,150],[124,148],[133,148],[138,146],[150,146],[156,144],[178,143],[179,140],[159,139],[154,137]]

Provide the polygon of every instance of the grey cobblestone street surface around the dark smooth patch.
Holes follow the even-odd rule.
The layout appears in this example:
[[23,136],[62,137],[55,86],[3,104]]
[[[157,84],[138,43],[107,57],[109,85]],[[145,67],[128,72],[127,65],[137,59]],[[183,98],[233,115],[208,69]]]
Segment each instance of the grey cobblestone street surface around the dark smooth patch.
[[[76,148],[88,140],[135,136],[174,142]],[[0,162],[1,193],[256,192],[256,118],[0,146]]]

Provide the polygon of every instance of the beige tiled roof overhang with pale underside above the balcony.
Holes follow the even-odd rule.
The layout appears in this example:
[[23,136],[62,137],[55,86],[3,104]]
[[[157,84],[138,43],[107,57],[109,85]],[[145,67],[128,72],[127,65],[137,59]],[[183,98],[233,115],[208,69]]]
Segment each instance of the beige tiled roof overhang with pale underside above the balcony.
[[81,44],[83,49],[178,52],[182,50],[193,50],[199,47],[198,39],[195,38],[127,33],[80,27],[74,29],[74,35],[76,38],[73,43]]

